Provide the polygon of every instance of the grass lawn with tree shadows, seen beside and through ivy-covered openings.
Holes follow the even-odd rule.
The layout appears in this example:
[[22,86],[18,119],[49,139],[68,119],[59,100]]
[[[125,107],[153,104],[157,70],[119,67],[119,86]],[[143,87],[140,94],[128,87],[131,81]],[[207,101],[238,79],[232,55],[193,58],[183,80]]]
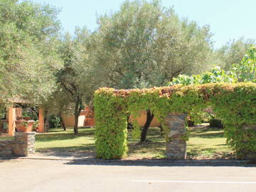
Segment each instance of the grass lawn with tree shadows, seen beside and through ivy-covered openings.
[[[36,151],[45,154],[95,154],[94,132],[93,128],[82,128],[79,130],[79,135],[75,136],[73,129],[68,129],[66,132],[61,129],[50,129],[46,134],[36,134]],[[147,139],[145,143],[139,144],[139,139],[133,139],[132,132],[129,131],[127,159],[165,158],[166,143],[158,127],[149,129]],[[232,150],[225,144],[223,129],[203,127],[190,131],[187,159],[223,158],[232,158]]]

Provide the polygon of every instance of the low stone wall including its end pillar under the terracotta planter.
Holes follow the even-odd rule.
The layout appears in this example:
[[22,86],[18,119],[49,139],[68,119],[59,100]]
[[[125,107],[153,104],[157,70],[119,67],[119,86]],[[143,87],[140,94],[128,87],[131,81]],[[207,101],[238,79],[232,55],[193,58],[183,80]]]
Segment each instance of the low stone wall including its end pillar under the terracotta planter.
[[0,140],[0,157],[29,156],[35,153],[35,132],[16,132],[14,139]]

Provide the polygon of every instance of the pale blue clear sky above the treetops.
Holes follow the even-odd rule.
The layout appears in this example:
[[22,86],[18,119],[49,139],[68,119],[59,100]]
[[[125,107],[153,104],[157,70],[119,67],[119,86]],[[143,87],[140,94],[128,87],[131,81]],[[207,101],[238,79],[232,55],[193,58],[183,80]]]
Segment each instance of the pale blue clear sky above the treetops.
[[[124,0],[31,0],[61,8],[58,16],[63,30],[97,28],[97,15],[118,11]],[[162,0],[174,6],[176,14],[200,26],[209,25],[215,48],[240,37],[256,39],[256,0]]]

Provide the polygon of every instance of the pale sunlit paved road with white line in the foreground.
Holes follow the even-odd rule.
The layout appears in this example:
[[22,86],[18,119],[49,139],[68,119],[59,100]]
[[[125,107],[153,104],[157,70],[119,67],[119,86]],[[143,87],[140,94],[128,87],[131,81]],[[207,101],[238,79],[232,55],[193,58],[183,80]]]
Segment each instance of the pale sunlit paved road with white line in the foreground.
[[256,168],[0,160],[0,191],[256,191]]

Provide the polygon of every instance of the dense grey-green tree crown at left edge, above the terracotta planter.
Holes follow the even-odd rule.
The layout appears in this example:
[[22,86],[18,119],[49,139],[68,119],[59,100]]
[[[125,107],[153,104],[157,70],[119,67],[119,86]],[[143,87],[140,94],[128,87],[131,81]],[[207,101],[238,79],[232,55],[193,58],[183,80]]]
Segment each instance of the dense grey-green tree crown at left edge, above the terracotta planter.
[[61,68],[55,54],[58,10],[30,1],[0,4],[0,99],[47,100],[55,90],[53,69]]

